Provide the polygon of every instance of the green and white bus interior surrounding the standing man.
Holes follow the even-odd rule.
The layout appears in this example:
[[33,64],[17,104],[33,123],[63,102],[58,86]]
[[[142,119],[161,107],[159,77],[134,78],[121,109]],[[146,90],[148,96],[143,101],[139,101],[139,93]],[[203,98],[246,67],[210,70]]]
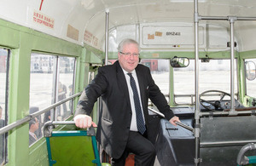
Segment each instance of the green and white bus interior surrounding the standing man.
[[[92,146],[84,142],[94,132],[75,128],[73,114],[125,38],[139,43],[140,64],[181,119],[173,126],[148,102],[155,166],[253,165],[255,31],[249,0],[2,0],[1,165],[111,164],[93,136]],[[94,122],[101,108],[99,99]],[[83,138],[63,136],[69,131]]]

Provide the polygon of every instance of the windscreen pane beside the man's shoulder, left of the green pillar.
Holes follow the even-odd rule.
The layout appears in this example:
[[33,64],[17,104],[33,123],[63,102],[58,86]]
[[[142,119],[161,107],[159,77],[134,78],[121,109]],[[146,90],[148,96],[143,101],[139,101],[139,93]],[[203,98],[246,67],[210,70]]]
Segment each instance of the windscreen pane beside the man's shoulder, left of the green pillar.
[[169,100],[169,70],[170,60],[144,59],[141,64],[148,66],[155,84],[159,86],[161,92],[165,94],[166,100]]

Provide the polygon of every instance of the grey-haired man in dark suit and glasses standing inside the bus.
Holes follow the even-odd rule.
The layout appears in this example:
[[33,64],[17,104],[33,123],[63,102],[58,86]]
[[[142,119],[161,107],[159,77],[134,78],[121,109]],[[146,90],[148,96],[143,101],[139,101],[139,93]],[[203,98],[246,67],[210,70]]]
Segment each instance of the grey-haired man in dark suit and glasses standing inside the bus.
[[[136,155],[136,165],[154,165],[155,149],[148,140],[148,98],[170,123],[176,125],[180,121],[154,83],[149,68],[138,64],[138,43],[125,39],[119,43],[118,51],[119,60],[99,68],[95,79],[84,89],[74,121],[82,129],[98,126],[96,139],[112,157],[113,166],[124,166],[129,152]],[[102,112],[96,125],[90,113],[100,96]]]

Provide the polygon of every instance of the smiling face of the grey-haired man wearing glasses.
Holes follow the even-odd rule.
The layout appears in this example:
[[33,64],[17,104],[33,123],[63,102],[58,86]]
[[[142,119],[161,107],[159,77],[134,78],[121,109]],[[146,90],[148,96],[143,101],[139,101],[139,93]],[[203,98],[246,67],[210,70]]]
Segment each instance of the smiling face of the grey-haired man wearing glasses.
[[[131,55],[127,53],[131,53]],[[132,72],[137,67],[139,56],[134,54],[139,54],[137,44],[135,43],[125,44],[121,53],[119,52],[120,66],[125,69],[126,72]]]

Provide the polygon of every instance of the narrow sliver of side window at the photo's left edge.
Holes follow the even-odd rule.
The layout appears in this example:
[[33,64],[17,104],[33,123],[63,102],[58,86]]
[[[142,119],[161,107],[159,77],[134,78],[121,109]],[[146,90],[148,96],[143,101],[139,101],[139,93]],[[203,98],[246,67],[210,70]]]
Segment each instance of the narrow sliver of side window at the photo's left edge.
[[[7,122],[8,106],[8,70],[9,70],[9,50],[0,49],[0,128],[3,128]],[[0,164],[4,163],[6,158],[7,134],[0,135]]]

